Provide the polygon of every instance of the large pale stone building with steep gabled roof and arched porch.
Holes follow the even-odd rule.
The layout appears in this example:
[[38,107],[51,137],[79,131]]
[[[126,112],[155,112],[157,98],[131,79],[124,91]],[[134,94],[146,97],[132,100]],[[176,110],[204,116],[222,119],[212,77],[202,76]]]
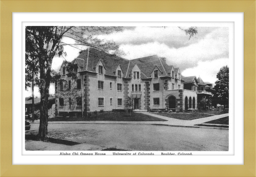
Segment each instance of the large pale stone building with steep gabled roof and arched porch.
[[[183,77],[180,68],[167,65],[158,55],[127,60],[88,48],[71,63],[77,66],[76,89],[80,95],[73,113],[129,109],[128,97],[133,99],[133,109],[197,108],[197,88],[201,89],[197,78]],[[56,115],[70,112],[61,93],[63,85],[70,88],[72,82],[62,65],[55,85]]]

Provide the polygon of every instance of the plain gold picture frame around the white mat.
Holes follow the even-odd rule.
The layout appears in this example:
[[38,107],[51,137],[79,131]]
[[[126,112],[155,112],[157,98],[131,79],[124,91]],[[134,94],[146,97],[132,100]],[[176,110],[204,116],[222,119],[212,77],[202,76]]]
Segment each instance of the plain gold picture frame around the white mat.
[[[12,165],[12,12],[243,12],[244,165]],[[0,176],[256,176],[256,0],[1,0]]]

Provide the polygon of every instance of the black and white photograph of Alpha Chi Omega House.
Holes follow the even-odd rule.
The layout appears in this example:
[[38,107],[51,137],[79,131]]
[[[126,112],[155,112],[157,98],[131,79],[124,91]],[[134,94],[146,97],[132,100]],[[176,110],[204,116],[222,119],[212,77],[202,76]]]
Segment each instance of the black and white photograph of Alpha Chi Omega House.
[[25,151],[229,151],[234,34],[203,24],[25,26]]

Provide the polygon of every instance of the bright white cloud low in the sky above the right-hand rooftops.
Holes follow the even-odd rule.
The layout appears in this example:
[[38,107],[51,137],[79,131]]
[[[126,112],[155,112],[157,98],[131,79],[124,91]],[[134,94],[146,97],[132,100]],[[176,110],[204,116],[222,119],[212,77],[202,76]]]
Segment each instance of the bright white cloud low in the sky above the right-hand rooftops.
[[213,61],[199,61],[197,66],[184,70],[182,76],[200,76],[203,81],[214,84],[217,81],[217,73],[222,66],[226,65],[229,65],[228,58],[220,58]]

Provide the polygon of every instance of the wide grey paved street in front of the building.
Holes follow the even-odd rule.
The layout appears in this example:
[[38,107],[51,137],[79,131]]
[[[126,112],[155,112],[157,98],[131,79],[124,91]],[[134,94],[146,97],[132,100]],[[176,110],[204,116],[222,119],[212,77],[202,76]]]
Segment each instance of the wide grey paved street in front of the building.
[[[31,124],[35,132],[38,127],[39,124]],[[228,151],[226,129],[148,124],[48,124],[48,135],[92,146],[138,151]],[[26,143],[27,150],[34,150],[28,145]]]

